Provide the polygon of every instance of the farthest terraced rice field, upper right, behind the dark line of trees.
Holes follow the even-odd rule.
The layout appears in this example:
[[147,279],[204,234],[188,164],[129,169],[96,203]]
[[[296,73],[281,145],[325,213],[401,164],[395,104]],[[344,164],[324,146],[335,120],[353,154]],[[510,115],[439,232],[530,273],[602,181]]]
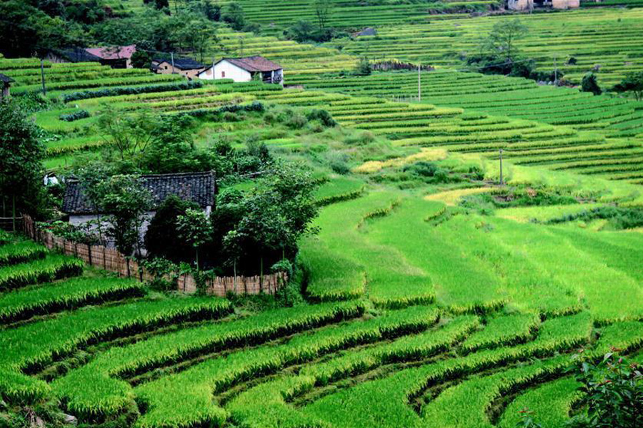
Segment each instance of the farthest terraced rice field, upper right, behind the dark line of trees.
[[[566,78],[579,82],[598,66],[599,83],[612,86],[629,71],[643,66],[641,37],[643,9],[596,9],[519,16],[529,28],[516,42],[524,56],[537,60],[539,69],[553,70],[554,59]],[[398,59],[432,66],[462,68],[459,56],[477,52],[480,40],[498,21],[515,16],[472,19],[433,19],[418,16],[406,26],[381,26],[377,36],[334,41],[342,52],[372,60]],[[576,63],[569,63],[569,58]]]

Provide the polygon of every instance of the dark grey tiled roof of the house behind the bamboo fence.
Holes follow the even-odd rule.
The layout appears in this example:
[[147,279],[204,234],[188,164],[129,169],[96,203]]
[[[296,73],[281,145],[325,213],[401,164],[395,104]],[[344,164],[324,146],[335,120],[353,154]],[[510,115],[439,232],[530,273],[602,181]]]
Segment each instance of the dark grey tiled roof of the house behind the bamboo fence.
[[[190,200],[201,208],[214,205],[214,173],[180,173],[141,175],[141,185],[149,190],[154,202],[154,209],[169,196],[176,195]],[[80,183],[68,180],[63,198],[62,211],[66,214],[97,214],[85,197]]]

